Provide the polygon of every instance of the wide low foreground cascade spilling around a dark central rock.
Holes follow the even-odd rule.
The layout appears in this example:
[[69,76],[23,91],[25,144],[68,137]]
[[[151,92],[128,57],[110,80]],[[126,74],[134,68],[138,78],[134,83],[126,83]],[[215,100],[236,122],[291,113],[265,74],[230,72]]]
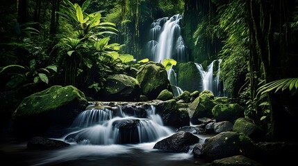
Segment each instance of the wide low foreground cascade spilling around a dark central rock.
[[147,118],[127,116],[121,107],[110,108],[113,110],[94,107],[80,113],[72,124],[75,130],[64,139],[81,145],[114,145],[153,142],[173,133],[163,126],[153,105],[146,109]]

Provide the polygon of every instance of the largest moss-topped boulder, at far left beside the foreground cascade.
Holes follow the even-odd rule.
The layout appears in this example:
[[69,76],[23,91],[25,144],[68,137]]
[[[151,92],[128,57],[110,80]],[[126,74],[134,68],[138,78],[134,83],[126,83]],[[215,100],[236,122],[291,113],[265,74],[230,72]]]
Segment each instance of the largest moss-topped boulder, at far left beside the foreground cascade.
[[18,138],[62,136],[63,129],[85,110],[88,101],[74,86],[51,86],[24,98],[13,113]]

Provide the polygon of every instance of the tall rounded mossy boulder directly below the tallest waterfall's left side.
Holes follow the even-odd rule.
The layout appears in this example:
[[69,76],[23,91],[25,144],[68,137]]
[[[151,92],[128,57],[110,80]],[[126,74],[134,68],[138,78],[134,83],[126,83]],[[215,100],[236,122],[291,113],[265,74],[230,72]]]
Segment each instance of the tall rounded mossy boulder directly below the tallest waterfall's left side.
[[136,79],[140,82],[142,94],[149,100],[156,99],[164,89],[172,92],[163,64],[154,62],[144,64],[138,71]]

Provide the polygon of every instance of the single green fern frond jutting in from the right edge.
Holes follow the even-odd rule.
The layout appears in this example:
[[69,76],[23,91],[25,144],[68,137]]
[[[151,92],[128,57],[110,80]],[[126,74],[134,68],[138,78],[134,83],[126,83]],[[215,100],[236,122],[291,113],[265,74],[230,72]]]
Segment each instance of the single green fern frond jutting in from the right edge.
[[295,89],[298,88],[298,78],[285,78],[282,80],[275,80],[273,82],[269,82],[267,84],[264,84],[263,86],[260,86],[260,88],[258,88],[258,94],[263,94],[273,90],[275,90],[274,93],[279,90],[284,91],[285,89],[289,89],[290,91],[292,91],[294,87]]

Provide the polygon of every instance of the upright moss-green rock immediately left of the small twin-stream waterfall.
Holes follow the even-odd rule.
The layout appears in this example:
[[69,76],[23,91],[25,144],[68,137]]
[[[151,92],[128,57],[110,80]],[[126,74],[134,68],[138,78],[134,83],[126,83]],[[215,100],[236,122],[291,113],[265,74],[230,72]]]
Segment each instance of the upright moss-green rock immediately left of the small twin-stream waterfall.
[[184,91],[196,91],[201,89],[201,75],[194,62],[179,63],[178,86]]

